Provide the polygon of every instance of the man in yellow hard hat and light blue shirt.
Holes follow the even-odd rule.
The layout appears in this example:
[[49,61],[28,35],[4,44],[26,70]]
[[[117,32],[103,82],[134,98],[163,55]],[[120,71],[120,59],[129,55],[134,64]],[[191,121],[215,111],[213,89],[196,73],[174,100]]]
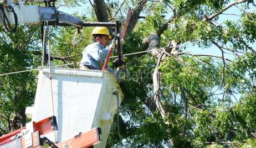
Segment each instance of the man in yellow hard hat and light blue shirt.
[[[93,43],[85,47],[80,69],[101,70],[110,50],[107,45],[111,36],[106,27],[95,27],[91,36],[93,36]],[[108,66],[106,70],[113,73]]]

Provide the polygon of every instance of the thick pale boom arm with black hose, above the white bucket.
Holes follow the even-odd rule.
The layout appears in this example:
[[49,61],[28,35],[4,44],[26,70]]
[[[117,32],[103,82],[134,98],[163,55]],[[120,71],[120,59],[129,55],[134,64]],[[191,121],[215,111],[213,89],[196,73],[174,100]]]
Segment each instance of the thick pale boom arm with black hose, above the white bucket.
[[[24,5],[22,1],[19,1],[18,5],[12,5],[12,7],[17,14],[18,24],[37,25],[48,21],[49,23],[64,23],[74,27],[83,28],[83,21],[80,18],[60,12],[55,7]],[[0,15],[3,16],[2,13],[3,12],[0,12]],[[4,8],[4,13],[7,16],[9,23],[15,24],[14,15],[8,10],[8,7]],[[0,17],[0,25],[4,25],[2,17]]]

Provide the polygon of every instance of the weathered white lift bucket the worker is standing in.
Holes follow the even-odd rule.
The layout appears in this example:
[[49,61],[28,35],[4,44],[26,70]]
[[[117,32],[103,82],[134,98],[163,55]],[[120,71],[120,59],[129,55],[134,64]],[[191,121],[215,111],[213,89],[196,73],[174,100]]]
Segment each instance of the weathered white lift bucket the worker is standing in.
[[[116,96],[123,94],[113,75],[107,71],[52,68],[52,92],[49,68],[40,67],[32,120],[57,117],[57,141],[71,138],[94,127],[102,130],[105,147],[111,123],[117,110]],[[54,141],[54,133],[47,135]]]

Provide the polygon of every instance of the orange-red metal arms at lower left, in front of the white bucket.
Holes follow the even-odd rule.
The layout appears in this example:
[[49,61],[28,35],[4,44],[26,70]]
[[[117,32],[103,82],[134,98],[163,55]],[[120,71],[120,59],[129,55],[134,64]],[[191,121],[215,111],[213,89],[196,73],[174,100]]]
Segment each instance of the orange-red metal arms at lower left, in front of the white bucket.
[[25,127],[0,137],[0,148],[34,148],[49,147],[90,147],[101,142],[100,128],[94,128],[85,133],[79,133],[73,138],[54,144],[48,138],[42,137],[51,131],[58,130],[55,116],[45,118],[38,122],[30,122]]

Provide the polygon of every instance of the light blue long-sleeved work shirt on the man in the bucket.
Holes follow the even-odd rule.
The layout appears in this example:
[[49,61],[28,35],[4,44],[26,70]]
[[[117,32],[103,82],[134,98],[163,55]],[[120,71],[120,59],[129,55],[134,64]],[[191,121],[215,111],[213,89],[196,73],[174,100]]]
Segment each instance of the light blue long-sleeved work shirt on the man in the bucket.
[[[94,42],[85,47],[81,63],[84,66],[89,67],[93,70],[101,70],[105,63],[107,54],[109,54],[109,50],[109,46],[104,48],[103,45]],[[108,66],[106,67],[106,70],[112,73],[111,68],[109,68]]]

